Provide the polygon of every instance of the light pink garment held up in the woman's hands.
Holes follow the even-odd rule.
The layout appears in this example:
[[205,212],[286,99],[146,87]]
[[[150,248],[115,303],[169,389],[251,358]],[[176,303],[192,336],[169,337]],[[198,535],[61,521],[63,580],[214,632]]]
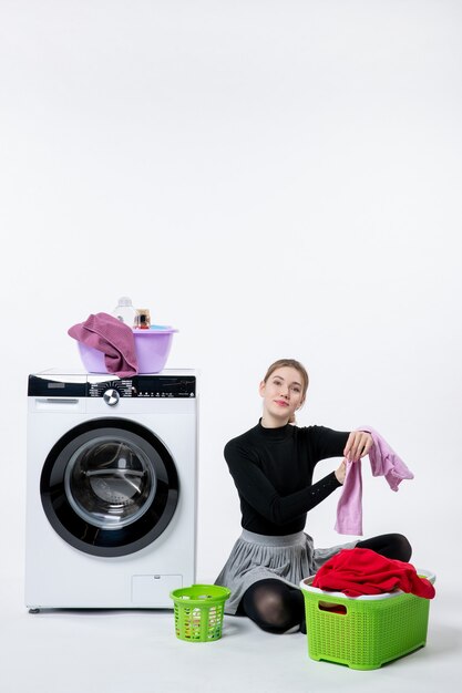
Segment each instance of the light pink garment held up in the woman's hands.
[[[412,472],[377,431],[370,426],[363,426],[358,431],[366,431],[372,436],[373,446],[369,451],[369,461],[373,476],[384,476],[392,490],[398,490],[403,479],[414,478]],[[347,476],[337,505],[335,529],[341,535],[362,536],[361,461],[347,462]]]

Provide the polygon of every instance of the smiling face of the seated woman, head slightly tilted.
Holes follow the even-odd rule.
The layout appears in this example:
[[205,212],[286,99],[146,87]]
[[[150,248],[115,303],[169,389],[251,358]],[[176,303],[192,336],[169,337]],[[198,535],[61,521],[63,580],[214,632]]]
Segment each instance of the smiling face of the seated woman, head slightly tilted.
[[273,371],[259,387],[267,423],[283,425],[289,422],[304,403],[304,379],[291,366]]

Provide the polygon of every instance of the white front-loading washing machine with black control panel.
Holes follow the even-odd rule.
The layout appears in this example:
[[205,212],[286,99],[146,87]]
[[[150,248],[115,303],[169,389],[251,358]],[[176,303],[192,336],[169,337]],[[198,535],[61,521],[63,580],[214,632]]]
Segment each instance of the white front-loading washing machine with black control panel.
[[172,608],[195,582],[196,381],[29,376],[29,609]]

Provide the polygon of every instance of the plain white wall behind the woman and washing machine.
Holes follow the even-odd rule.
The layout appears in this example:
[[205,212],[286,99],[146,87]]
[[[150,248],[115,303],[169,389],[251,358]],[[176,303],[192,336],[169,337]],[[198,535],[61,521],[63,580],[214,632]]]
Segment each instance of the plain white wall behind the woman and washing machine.
[[[365,534],[440,575],[460,539],[462,4],[1,0],[0,570],[22,576],[27,375],[119,296],[202,371],[199,575],[239,532],[225,442],[280,356],[299,423],[370,423]],[[319,474],[333,468],[322,463]],[[309,517],[318,545],[337,496]]]

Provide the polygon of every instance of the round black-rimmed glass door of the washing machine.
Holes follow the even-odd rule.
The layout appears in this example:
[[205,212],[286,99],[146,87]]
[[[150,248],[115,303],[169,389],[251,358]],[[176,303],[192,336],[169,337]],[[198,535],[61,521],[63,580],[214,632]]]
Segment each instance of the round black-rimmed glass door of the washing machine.
[[104,418],[70,430],[43,465],[40,493],[57,532],[95,556],[125,556],[171,521],[178,476],[165,445],[132,421]]

